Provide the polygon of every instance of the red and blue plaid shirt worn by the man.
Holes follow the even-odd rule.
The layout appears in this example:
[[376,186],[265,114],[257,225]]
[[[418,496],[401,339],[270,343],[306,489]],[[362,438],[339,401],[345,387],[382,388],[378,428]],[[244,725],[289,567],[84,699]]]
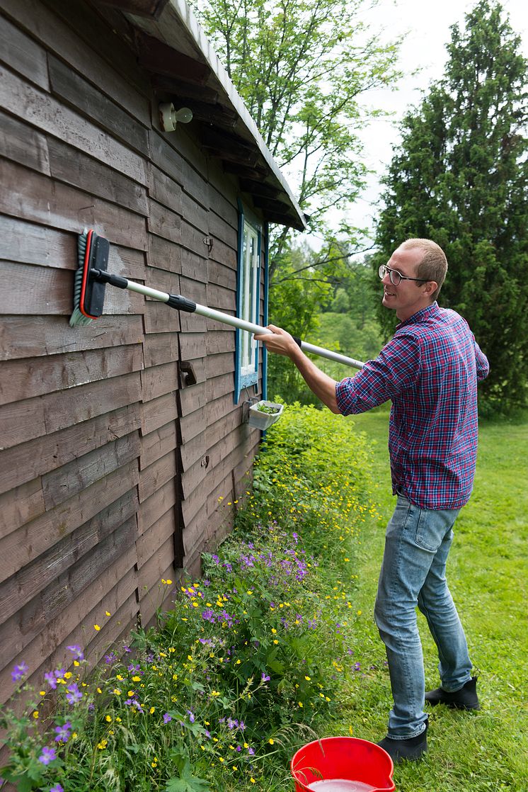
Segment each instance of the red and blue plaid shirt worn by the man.
[[469,501],[477,461],[477,382],[488,371],[465,319],[432,303],[401,322],[355,377],[336,383],[343,415],[392,401],[393,494],[421,508],[460,508]]

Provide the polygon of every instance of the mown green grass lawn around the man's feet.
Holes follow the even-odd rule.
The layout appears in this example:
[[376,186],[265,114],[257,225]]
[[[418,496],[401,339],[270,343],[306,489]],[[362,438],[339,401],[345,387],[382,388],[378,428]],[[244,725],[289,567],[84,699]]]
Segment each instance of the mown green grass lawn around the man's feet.
[[[345,718],[329,725],[377,741],[386,733],[392,703],[385,653],[374,625],[374,597],[386,521],[393,512],[387,451],[388,413],[353,419],[376,440],[376,497],[382,520],[367,525],[357,555],[355,659]],[[528,790],[528,642],[526,538],[528,534],[528,422],[481,424],[473,496],[454,527],[447,577],[479,675],[480,712],[431,710],[429,751],[399,765],[398,792]],[[419,615],[427,687],[438,687],[435,645]]]

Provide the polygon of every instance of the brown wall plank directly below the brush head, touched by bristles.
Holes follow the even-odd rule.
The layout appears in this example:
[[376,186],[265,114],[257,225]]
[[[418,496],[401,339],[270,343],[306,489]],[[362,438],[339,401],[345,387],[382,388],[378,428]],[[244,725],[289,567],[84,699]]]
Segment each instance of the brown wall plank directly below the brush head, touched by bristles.
[[0,322],[0,360],[80,352],[135,344],[142,337],[141,316],[102,316],[71,328],[63,316],[4,316]]

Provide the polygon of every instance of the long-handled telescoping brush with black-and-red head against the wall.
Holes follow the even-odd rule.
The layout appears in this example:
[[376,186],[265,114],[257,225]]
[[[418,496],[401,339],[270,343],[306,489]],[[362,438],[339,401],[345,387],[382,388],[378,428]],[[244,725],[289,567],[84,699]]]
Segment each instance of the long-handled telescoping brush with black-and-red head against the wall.
[[[158,289],[143,286],[120,275],[111,275],[106,271],[108,249],[108,240],[98,236],[93,230],[85,231],[79,237],[79,268],[75,276],[74,312],[70,318],[72,327],[88,324],[92,319],[97,319],[101,316],[104,303],[104,287],[109,284],[120,289],[127,289],[127,291],[135,291],[151,299],[157,299],[160,303],[165,303],[170,308],[183,310],[188,314],[199,314],[199,316],[214,319],[216,322],[222,322],[224,325],[245,330],[247,333],[273,335],[272,330],[267,327],[261,327],[253,322],[246,322],[245,319],[240,319],[237,316],[224,314],[220,310],[200,305],[182,295],[171,295],[166,291],[158,291]],[[295,336],[294,340],[303,352],[310,352],[313,355],[325,357],[328,360],[335,360],[337,363],[353,368],[363,368],[363,363],[360,360],[340,355],[339,352],[332,352],[332,350],[324,347],[307,344],[306,341],[302,341]]]

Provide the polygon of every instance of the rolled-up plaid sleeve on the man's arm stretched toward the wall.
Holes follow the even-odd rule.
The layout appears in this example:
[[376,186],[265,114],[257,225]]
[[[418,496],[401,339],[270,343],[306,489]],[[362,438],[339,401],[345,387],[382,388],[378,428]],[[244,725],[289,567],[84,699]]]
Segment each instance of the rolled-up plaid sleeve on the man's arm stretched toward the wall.
[[354,376],[336,383],[340,413],[364,413],[412,388],[420,372],[420,344],[415,337],[395,335],[375,360]]

